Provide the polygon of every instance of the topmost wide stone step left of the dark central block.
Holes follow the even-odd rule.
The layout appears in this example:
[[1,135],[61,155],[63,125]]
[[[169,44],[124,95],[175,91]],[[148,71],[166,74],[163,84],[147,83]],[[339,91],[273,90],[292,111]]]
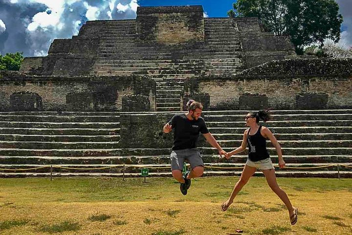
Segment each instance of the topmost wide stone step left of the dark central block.
[[36,116],[36,115],[4,115],[1,113],[0,121],[30,121],[30,122],[119,122],[119,116]]

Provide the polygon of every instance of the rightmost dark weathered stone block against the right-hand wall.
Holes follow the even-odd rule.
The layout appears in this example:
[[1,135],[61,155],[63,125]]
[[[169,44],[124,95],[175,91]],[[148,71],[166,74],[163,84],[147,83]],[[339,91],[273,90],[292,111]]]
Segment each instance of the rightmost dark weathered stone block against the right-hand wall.
[[296,95],[296,109],[325,109],[328,99],[328,94],[298,94]]

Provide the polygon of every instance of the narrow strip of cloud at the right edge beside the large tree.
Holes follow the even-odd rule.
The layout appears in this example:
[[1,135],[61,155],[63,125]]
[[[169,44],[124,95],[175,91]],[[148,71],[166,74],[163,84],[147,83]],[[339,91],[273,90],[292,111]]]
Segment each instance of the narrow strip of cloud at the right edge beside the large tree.
[[344,47],[352,47],[352,1],[337,0],[340,13],[343,16],[342,33],[339,44]]

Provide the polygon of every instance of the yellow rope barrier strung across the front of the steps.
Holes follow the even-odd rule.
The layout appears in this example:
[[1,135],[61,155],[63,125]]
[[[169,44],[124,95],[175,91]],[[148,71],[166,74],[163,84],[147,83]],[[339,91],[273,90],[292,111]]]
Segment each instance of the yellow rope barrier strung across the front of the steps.
[[[311,166],[311,167],[293,167],[293,166],[284,166],[284,168],[287,169],[315,169],[315,168],[325,168],[325,167],[330,167],[330,166],[338,166],[342,165],[345,167],[351,167],[352,165],[346,165],[346,164],[329,164],[329,165],[321,165],[321,166]],[[122,166],[122,165],[121,165]],[[139,167],[139,168],[149,168],[149,169],[167,169],[171,168],[171,166],[143,166],[143,165],[130,165],[130,164],[125,164],[124,166],[132,166],[132,167]],[[280,167],[279,165],[274,165],[275,167]],[[66,166],[61,166],[61,165],[44,165],[40,167],[33,167],[33,168],[26,168],[26,169],[5,169],[5,168],[0,168],[0,170],[3,171],[25,171],[25,170],[35,170],[35,169],[41,169],[45,167],[56,167],[56,168],[64,168],[64,169],[72,169],[72,170],[99,170],[99,169],[108,169],[108,168],[114,168],[118,166],[105,166],[105,167],[96,167],[96,168],[74,168],[74,167],[66,167]],[[123,166],[122,166],[123,167]],[[210,166],[210,165],[204,165],[204,167],[207,168],[217,168],[217,169],[242,169],[244,166],[238,166],[238,167],[222,167],[222,166]]]

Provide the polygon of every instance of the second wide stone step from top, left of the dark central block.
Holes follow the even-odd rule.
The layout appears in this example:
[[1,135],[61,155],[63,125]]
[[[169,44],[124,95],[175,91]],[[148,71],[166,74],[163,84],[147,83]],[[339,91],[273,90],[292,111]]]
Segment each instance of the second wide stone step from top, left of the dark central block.
[[120,122],[25,122],[0,121],[0,127],[17,128],[120,128]]

